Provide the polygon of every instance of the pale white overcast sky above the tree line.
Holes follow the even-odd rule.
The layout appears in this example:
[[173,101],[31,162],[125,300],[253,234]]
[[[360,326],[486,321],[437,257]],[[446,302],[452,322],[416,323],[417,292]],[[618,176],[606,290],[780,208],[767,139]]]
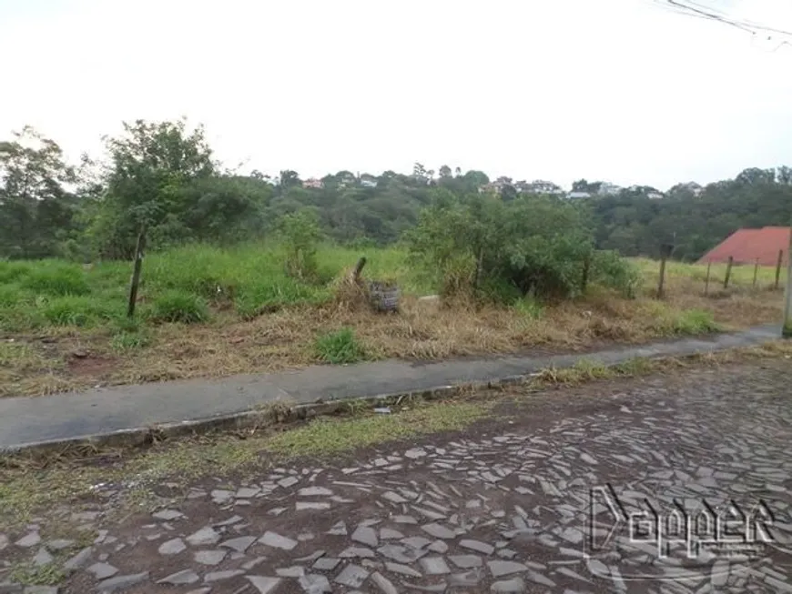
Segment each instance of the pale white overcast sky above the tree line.
[[[792,29],[788,0],[700,0]],[[243,171],[665,189],[792,165],[792,46],[650,0],[0,0],[0,137],[187,116]]]

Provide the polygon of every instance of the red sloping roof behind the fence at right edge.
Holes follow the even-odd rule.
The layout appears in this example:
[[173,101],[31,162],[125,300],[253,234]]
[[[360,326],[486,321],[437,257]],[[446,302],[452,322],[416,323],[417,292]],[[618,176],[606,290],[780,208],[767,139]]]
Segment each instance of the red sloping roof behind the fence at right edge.
[[754,264],[758,260],[759,266],[775,267],[779,251],[784,252],[786,265],[789,256],[789,227],[737,229],[698,262],[728,262],[731,256],[735,258],[735,264]]

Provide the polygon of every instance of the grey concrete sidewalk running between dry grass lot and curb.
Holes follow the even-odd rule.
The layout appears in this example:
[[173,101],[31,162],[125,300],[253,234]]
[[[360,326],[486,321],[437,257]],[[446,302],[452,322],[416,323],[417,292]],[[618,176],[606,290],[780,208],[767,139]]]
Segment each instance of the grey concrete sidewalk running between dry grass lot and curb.
[[346,367],[308,367],[277,374],[96,388],[53,396],[0,398],[0,449],[228,416],[285,398],[310,404],[409,393],[523,376],[544,367],[569,367],[582,358],[612,365],[633,357],[686,356],[748,347],[780,336],[779,327],[766,326],[708,339],[614,347],[585,355],[490,357],[428,364],[381,361]]

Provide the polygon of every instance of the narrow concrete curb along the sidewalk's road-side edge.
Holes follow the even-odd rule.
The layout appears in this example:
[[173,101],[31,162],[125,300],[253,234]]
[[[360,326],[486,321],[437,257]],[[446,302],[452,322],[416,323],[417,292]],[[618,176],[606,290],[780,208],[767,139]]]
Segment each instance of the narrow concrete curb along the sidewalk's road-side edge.
[[[774,339],[758,341],[755,344],[747,347],[759,347],[763,344],[773,341]],[[646,355],[630,357],[628,359],[612,362],[597,361],[597,363],[603,367],[616,367],[623,364],[625,360],[663,360],[668,358],[690,359],[706,353],[726,352],[739,348],[746,348],[746,346],[716,347],[681,355]],[[578,361],[584,359],[595,360],[596,354],[592,353],[591,355],[591,357],[579,357]],[[574,367],[574,365],[566,365],[556,368],[570,367]],[[267,428],[282,422],[329,416],[349,407],[350,403],[363,403],[365,405],[371,405],[372,407],[383,406],[395,404],[405,398],[421,398],[425,401],[431,401],[439,398],[457,396],[462,392],[480,392],[482,390],[492,388],[506,388],[509,386],[523,385],[529,383],[536,375],[536,373],[526,373],[491,379],[489,381],[463,381],[453,385],[437,386],[434,388],[426,388],[416,391],[394,392],[390,394],[380,394],[376,396],[357,398],[340,398],[331,401],[296,404],[293,406],[290,406],[286,401],[279,401],[259,409],[246,410],[239,413],[219,415],[210,418],[198,418],[181,422],[162,423],[150,427],[121,429],[113,432],[89,435],[80,438],[52,439],[47,441],[29,442],[21,446],[0,448],[0,456],[19,454],[65,454],[69,450],[73,449],[90,450],[102,448],[146,448],[157,441],[170,438],[193,436],[196,434],[209,433],[212,431],[239,431]]]

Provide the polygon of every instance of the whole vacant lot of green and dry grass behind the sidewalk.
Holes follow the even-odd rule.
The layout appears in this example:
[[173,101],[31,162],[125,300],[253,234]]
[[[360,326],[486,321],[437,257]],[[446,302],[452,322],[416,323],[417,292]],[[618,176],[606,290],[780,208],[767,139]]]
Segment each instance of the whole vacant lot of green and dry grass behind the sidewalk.
[[[340,300],[337,279],[358,257],[364,276],[395,280],[401,312],[378,315]],[[137,316],[126,318],[131,265],[58,260],[0,262],[0,396],[97,384],[156,381],[351,362],[433,359],[526,349],[581,350],[604,342],[695,335],[780,319],[775,271],[670,264],[666,296],[653,291],[658,264],[636,260],[645,286],[635,299],[601,287],[558,304],[510,307],[421,302],[435,292],[398,248],[322,247],[319,279],[287,277],[277,247],[184,247],[147,257]],[[783,279],[782,279],[783,285]]]

